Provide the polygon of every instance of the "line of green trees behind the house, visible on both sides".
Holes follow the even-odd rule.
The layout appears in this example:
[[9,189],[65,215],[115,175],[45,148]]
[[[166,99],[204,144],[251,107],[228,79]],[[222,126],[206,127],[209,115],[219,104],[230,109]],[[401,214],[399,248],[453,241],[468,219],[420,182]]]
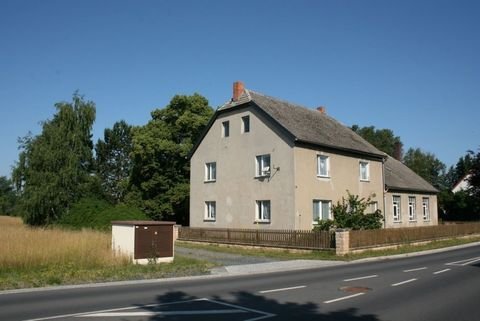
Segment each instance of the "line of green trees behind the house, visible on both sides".
[[[95,218],[98,213],[109,220],[188,224],[188,153],[214,112],[205,97],[176,95],[167,106],[153,110],[147,124],[117,121],[96,143],[94,102],[76,92],[72,101],[59,102],[55,109],[40,134],[19,139],[12,178],[0,177],[2,214],[21,216],[34,226],[107,226],[109,221]],[[466,152],[447,170],[420,148],[404,153],[400,137],[390,129],[351,129],[436,187],[442,218],[480,219],[480,151]],[[451,192],[467,174],[470,188]]]

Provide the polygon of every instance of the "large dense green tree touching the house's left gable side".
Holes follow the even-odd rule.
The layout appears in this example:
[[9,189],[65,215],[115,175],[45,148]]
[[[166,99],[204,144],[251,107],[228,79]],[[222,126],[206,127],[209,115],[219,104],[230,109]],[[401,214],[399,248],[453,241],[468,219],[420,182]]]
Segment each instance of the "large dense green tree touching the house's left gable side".
[[187,155],[213,114],[199,94],[177,95],[152,119],[133,129],[133,168],[126,199],[153,219],[188,222]]

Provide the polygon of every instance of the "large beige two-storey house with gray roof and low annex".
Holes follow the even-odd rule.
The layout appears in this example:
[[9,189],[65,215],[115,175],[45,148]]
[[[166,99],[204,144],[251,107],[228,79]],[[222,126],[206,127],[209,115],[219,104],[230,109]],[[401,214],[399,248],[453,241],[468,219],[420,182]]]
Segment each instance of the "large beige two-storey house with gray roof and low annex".
[[437,224],[436,189],[328,116],[234,84],[191,151],[190,226],[311,229],[348,190],[385,227]]

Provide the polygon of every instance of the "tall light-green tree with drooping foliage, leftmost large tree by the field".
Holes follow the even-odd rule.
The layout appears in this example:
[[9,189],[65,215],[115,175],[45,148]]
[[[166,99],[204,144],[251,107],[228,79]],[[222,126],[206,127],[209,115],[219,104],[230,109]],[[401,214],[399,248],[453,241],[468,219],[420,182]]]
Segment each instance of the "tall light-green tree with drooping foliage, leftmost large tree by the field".
[[21,140],[12,175],[30,225],[55,222],[92,187],[95,104],[74,93],[72,102],[56,103],[55,108],[39,135]]

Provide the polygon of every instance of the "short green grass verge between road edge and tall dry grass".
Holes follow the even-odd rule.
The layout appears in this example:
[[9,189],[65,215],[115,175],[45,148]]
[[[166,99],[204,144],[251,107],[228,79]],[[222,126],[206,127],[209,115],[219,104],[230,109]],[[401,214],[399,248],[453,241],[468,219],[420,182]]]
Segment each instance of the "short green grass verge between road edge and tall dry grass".
[[0,269],[0,290],[202,275],[207,274],[213,266],[213,263],[206,261],[177,256],[170,264],[92,268],[64,264],[23,270]]

